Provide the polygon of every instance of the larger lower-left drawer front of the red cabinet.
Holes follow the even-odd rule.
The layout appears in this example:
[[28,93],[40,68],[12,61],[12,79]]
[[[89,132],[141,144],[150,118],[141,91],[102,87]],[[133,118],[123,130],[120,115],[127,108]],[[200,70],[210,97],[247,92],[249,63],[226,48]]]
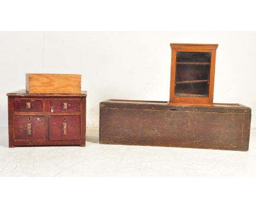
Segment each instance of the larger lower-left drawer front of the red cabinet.
[[45,139],[44,116],[15,116],[14,139]]

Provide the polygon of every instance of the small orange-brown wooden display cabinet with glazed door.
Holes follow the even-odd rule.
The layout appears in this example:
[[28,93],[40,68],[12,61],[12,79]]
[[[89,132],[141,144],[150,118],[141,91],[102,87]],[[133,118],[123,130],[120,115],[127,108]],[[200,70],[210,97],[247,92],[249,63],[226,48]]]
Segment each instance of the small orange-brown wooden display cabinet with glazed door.
[[169,104],[213,105],[218,44],[171,44]]

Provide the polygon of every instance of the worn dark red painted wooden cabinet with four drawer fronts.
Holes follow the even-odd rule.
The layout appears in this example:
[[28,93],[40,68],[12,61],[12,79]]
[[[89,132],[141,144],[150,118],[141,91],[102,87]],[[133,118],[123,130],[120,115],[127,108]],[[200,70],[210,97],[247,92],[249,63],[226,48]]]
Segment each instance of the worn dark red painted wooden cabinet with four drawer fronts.
[[85,146],[86,91],[80,94],[8,93],[9,147]]

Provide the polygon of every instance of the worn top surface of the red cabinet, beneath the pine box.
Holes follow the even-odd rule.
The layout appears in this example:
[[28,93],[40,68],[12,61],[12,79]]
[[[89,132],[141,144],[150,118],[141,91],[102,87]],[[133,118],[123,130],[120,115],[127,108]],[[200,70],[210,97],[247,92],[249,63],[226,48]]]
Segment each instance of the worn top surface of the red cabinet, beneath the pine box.
[[72,94],[32,94],[27,93],[25,89],[14,91],[12,93],[7,93],[7,96],[21,96],[21,97],[86,97],[87,91],[81,91],[81,93]]

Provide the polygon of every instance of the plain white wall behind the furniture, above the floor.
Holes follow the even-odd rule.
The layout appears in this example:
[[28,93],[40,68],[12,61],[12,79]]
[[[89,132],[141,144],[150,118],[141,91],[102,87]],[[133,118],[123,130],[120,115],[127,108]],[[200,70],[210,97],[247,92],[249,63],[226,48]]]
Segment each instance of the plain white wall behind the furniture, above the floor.
[[103,100],[168,101],[171,42],[219,44],[214,102],[251,107],[256,127],[256,32],[1,32],[0,126],[26,73],[82,74],[89,127]]

